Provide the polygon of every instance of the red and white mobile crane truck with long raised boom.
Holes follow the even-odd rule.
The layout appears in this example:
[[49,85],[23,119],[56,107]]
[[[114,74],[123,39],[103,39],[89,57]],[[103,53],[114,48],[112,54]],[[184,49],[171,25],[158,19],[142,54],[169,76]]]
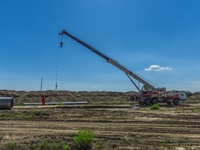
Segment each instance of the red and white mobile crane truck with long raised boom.
[[[82,40],[76,38],[75,36],[73,36],[72,34],[68,33],[65,30],[60,32],[59,35],[69,36],[70,38],[72,38],[76,42],[80,43],[84,47],[88,48],[89,50],[91,50],[95,54],[97,54],[100,57],[102,57],[103,59],[105,59],[110,64],[114,65],[115,67],[117,67],[118,69],[123,71],[127,75],[127,77],[130,79],[130,81],[133,83],[133,85],[137,88],[137,90],[140,92],[140,96],[137,97],[137,101],[139,102],[139,104],[141,104],[141,105],[144,105],[144,104],[145,105],[153,105],[153,104],[157,104],[158,102],[165,102],[169,105],[171,103],[174,103],[174,105],[176,105],[176,106],[179,105],[179,101],[180,101],[179,93],[174,92],[174,93],[167,94],[165,87],[162,87],[162,88],[154,87],[152,84],[147,82],[142,77],[138,76],[136,73],[125,68],[124,66],[119,64],[117,61],[115,61],[111,57],[106,56],[105,54],[101,53],[100,51],[98,51],[94,47],[92,47],[92,46],[88,45],[87,43],[83,42]],[[61,47],[63,46],[62,41],[60,42],[60,46]],[[139,83],[142,83],[143,86],[142,86],[141,89],[139,88],[139,86],[136,85],[136,83],[132,80],[132,78],[137,80]]]

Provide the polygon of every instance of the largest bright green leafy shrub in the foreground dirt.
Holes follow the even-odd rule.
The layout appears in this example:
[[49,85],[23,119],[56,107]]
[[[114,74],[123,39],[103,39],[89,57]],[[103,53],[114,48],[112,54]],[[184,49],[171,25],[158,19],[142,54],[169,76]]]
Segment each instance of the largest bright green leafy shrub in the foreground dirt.
[[78,135],[73,138],[73,140],[75,143],[75,149],[89,150],[92,148],[94,133],[92,131],[81,130]]

